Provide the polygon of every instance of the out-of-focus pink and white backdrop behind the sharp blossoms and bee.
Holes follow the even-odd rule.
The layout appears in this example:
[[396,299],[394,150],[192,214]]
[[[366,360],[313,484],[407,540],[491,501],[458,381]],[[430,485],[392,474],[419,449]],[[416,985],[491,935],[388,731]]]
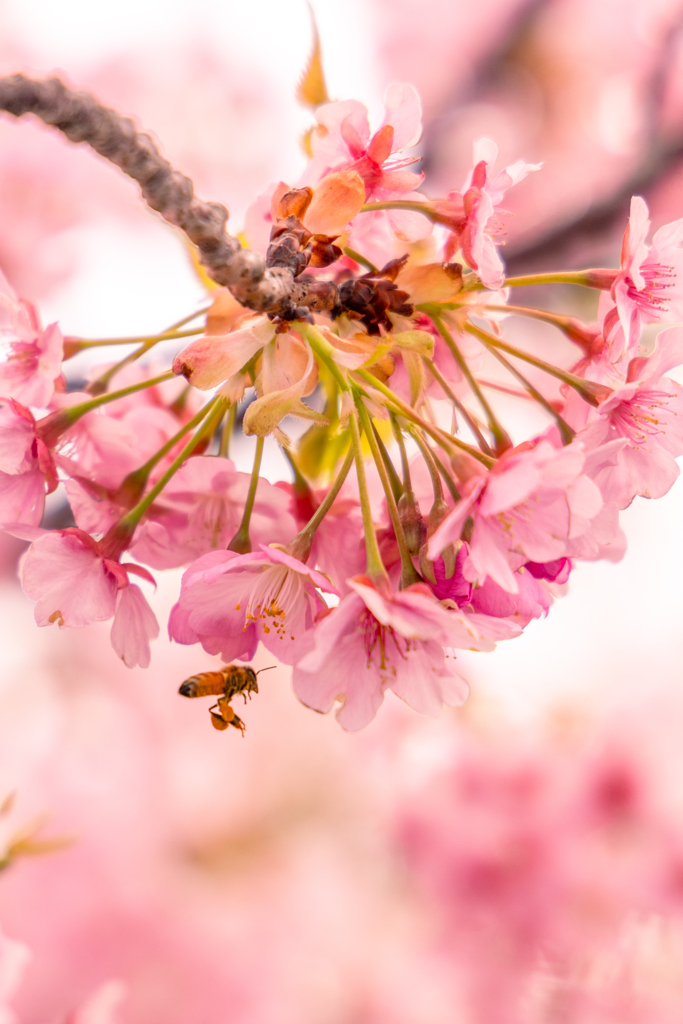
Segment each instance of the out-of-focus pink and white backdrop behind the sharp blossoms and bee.
[[[315,13],[333,97],[372,111],[391,81],[420,89],[428,195],[460,186],[480,135],[544,162],[511,206],[516,272],[614,265],[633,191],[654,226],[683,215],[680,0]],[[310,43],[298,0],[0,2],[3,74],[58,70],[135,115],[236,228],[303,165]],[[202,296],[131,182],[5,118],[0,267],[66,334],[158,330]],[[623,562],[582,564],[547,621],[463,657],[464,709],[432,721],[389,696],[349,736],[279,670],[244,740],[177,696],[203,652],[161,638],[129,672],[105,627],[39,631],[3,540],[0,835],[42,821],[68,842],[0,878],[0,925],[32,951],[14,984],[0,949],[0,1020],[680,1021],[682,522],[680,481],[637,500]],[[160,612],[178,586],[150,594]]]

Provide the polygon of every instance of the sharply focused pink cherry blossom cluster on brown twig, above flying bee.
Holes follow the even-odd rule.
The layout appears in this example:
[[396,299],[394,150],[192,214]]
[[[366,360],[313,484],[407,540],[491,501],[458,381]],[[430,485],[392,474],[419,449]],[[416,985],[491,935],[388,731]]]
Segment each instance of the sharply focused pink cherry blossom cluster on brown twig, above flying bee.
[[[80,95],[69,129],[47,100],[3,103],[113,154],[95,131],[104,109],[82,102],[88,121]],[[154,153],[150,167],[132,148],[111,156],[197,245],[208,304],[131,339],[84,391],[67,388],[62,361],[106,342],[44,329],[0,278],[0,524],[31,542],[20,575],[38,625],[113,620],[117,654],[147,666],[159,624],[135,581],[183,567],[173,640],[225,662],[260,641],[305,705],[337,705],[351,730],[387,689],[426,715],[461,703],[457,651],[518,636],[577,560],[621,558],[620,511],[666,494],[683,455],[683,398],[666,376],[683,362],[683,220],[648,242],[634,197],[618,269],[506,278],[502,204],[540,165],[497,170],[481,139],[460,190],[428,199],[407,169],[418,94],[392,85],[385,106],[373,132],[355,100],[316,105],[308,166],[254,203],[249,248],[211,233],[217,204],[200,216],[177,172],[162,188]],[[597,323],[510,302],[553,283],[598,290]],[[511,317],[552,325],[571,356],[513,345]],[[670,325],[653,348],[651,324]],[[143,358],[174,340],[172,368]],[[501,395],[546,426],[513,443]],[[255,437],[251,473],[229,458],[240,428]],[[261,475],[266,437],[291,480]],[[45,529],[56,488],[75,525]]]

